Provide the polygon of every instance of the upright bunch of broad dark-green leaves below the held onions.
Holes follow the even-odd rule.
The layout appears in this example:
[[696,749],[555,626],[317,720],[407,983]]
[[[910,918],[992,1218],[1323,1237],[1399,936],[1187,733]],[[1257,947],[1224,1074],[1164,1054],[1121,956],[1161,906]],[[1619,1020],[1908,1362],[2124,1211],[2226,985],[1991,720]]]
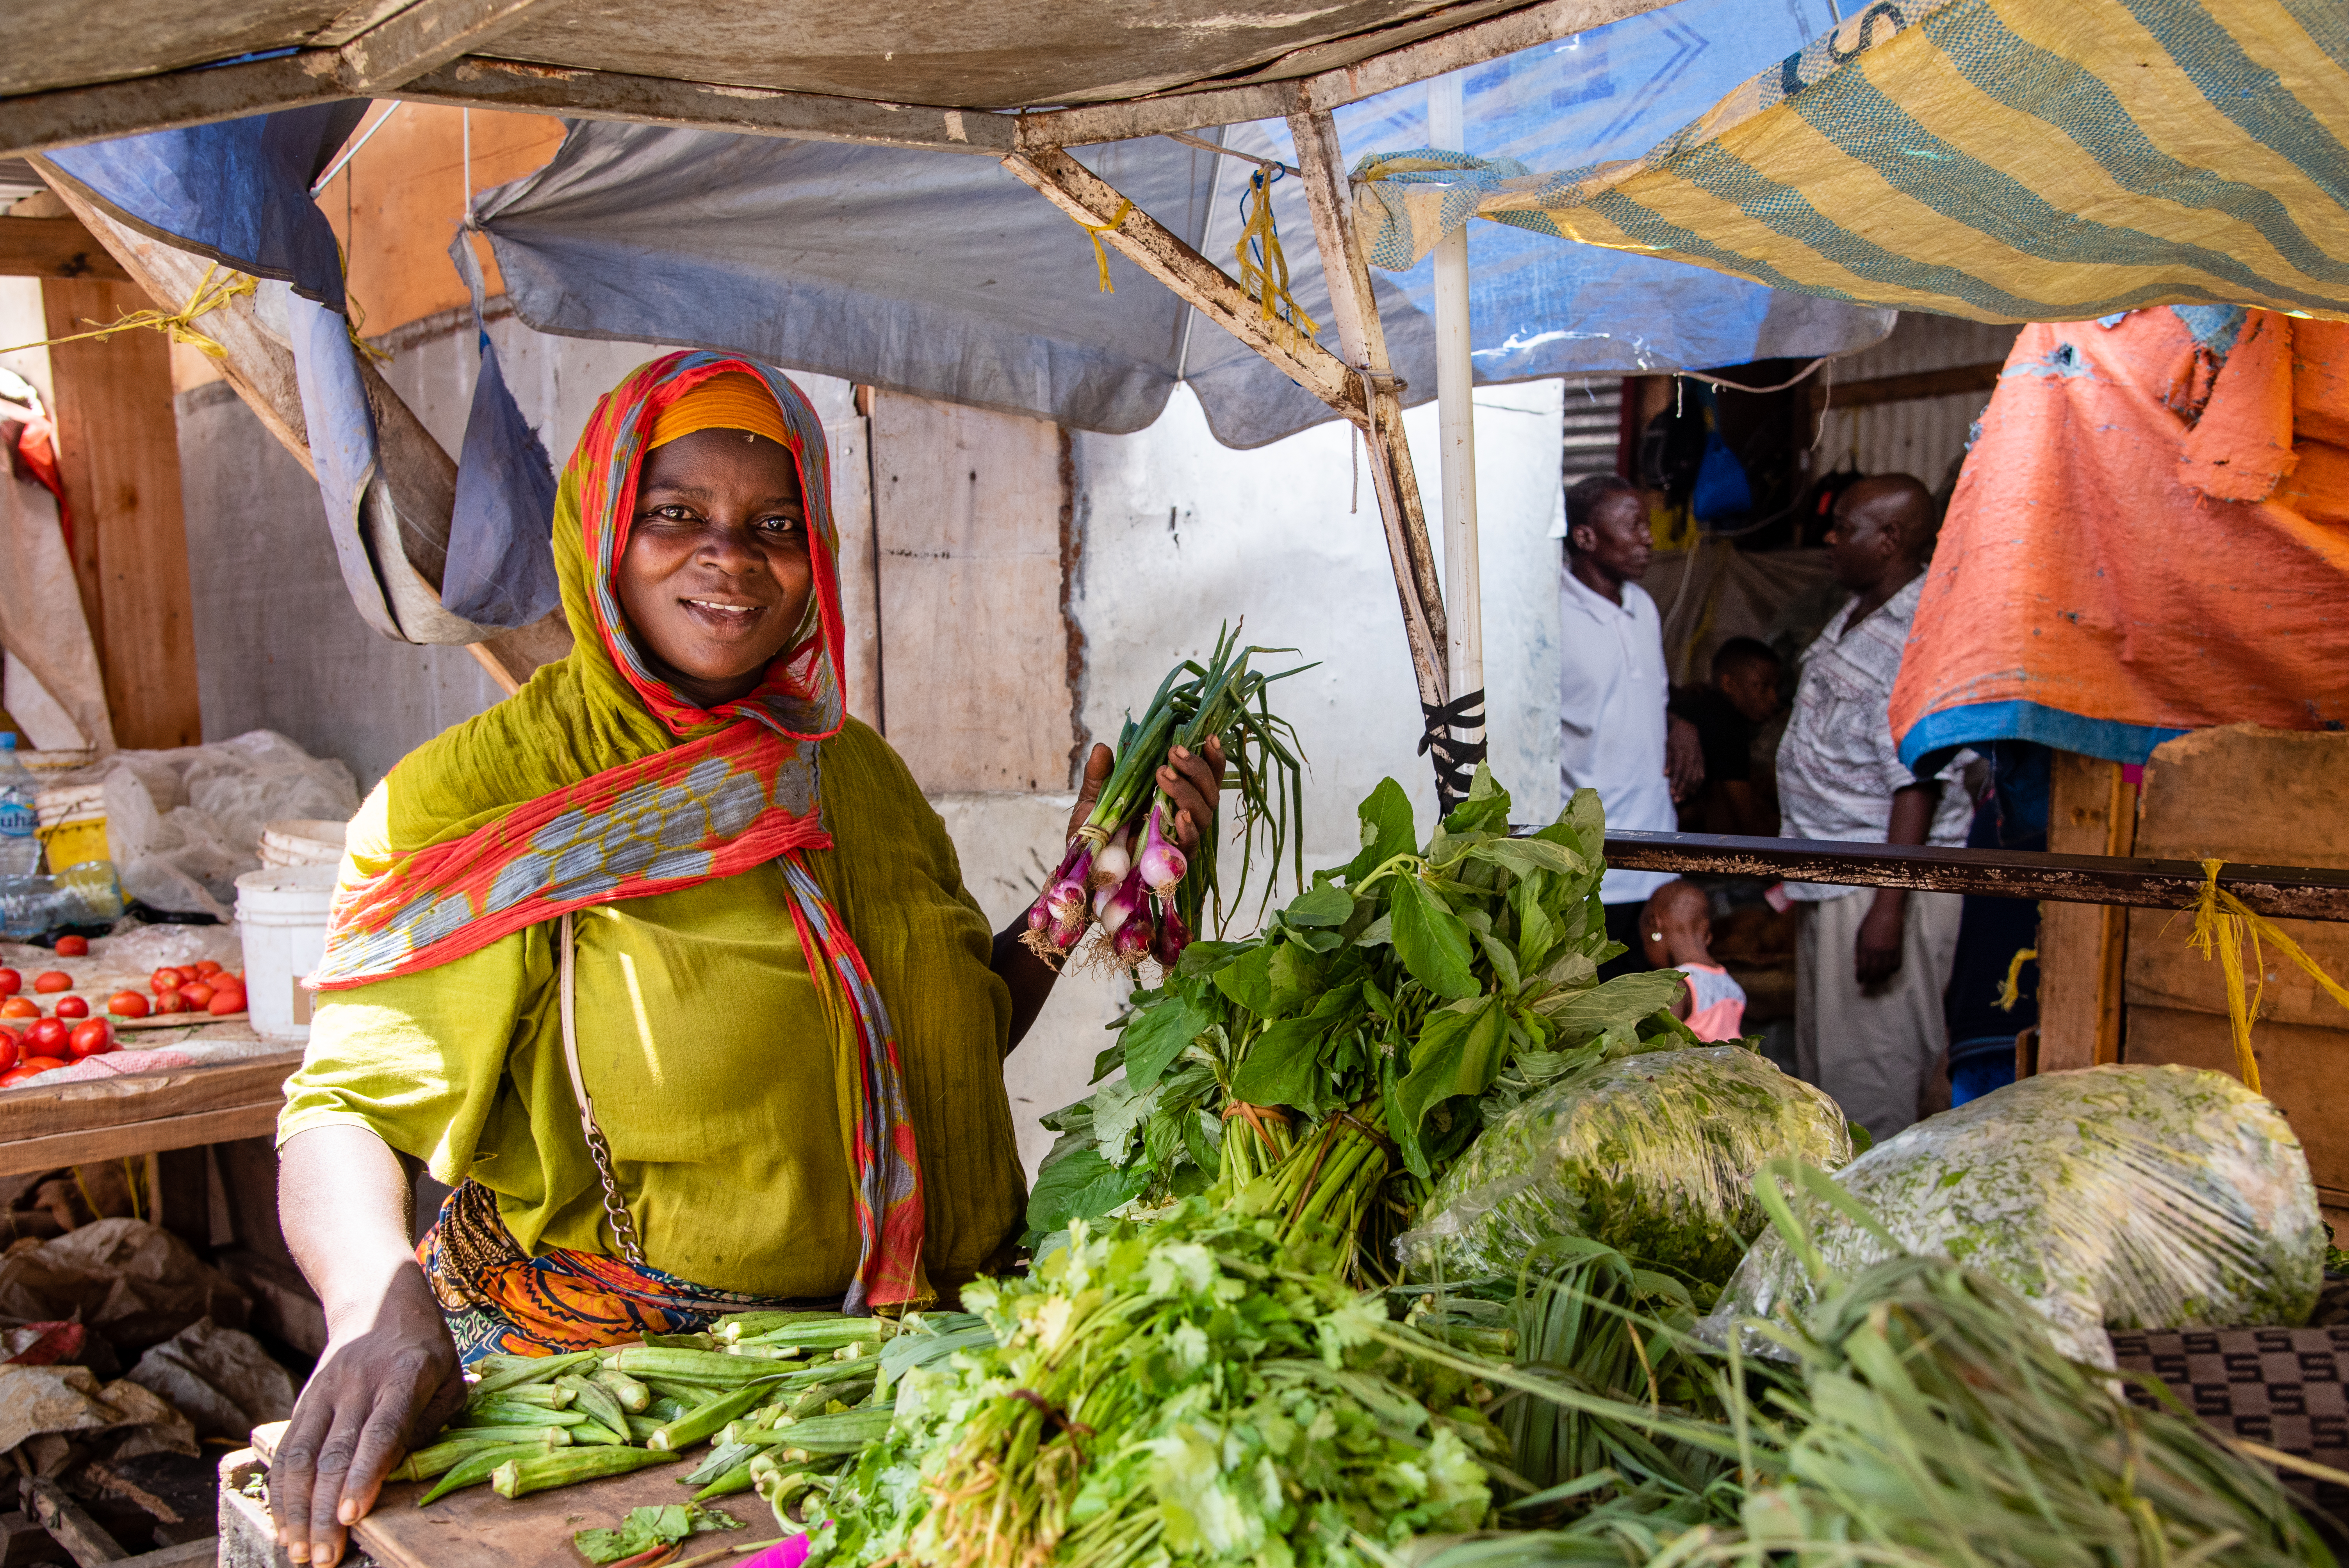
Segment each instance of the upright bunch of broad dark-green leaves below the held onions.
[[1095,1082],[1125,1075],[1045,1117],[1062,1141],[1029,1239],[1135,1199],[1238,1192],[1292,1153],[1327,1162],[1292,1117],[1348,1113],[1426,1183],[1482,1127],[1482,1096],[1499,1108],[1607,1054],[1696,1045],[1670,1014],[1677,972],[1597,981],[1623,951],[1597,901],[1597,796],[1525,838],[1508,805],[1480,765],[1421,845],[1384,779],[1353,861],[1315,871],[1257,937],[1196,941],[1135,993],[1095,1061]]

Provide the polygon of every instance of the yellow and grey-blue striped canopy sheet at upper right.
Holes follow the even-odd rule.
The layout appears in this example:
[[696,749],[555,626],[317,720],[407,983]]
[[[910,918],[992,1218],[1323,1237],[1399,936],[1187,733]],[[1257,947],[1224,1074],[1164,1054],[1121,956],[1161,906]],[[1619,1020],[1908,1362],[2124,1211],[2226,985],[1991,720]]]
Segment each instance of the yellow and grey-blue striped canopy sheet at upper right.
[[[1644,157],[1367,157],[1374,265],[1470,214],[1978,322],[2349,317],[2349,9],[1870,5]],[[1447,167],[1449,164],[1449,167]]]

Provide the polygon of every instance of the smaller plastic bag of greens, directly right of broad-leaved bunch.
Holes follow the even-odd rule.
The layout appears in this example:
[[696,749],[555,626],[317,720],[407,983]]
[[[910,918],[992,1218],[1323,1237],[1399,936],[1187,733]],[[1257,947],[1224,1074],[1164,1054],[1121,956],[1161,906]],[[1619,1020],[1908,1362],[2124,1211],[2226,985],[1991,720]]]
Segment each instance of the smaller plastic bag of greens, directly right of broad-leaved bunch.
[[1416,1275],[1515,1275],[1583,1235],[1722,1282],[1764,1225],[1755,1171],[1851,1160],[1844,1115],[1741,1045],[1640,1052],[1560,1077],[1487,1127],[1398,1237]]

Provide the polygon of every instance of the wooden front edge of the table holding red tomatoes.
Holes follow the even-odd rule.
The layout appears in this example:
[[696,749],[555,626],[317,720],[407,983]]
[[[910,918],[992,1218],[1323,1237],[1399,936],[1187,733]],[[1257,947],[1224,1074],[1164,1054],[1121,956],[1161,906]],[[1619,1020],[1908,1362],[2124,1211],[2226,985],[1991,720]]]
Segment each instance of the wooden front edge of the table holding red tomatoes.
[[275,1131],[301,1047],[263,1056],[0,1089],[0,1176]]

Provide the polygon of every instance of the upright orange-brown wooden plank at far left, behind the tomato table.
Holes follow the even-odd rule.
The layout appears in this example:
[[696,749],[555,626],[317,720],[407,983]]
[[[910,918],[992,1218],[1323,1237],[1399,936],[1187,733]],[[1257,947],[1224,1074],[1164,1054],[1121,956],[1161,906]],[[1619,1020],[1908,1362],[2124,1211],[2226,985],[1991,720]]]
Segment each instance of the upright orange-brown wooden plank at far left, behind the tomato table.
[[[148,307],[136,284],[45,279],[49,336],[89,331]],[[73,507],[75,573],[99,646],[106,709],[122,746],[204,739],[195,697],[188,523],[179,498],[171,345],[127,331],[54,343],[56,467]]]

